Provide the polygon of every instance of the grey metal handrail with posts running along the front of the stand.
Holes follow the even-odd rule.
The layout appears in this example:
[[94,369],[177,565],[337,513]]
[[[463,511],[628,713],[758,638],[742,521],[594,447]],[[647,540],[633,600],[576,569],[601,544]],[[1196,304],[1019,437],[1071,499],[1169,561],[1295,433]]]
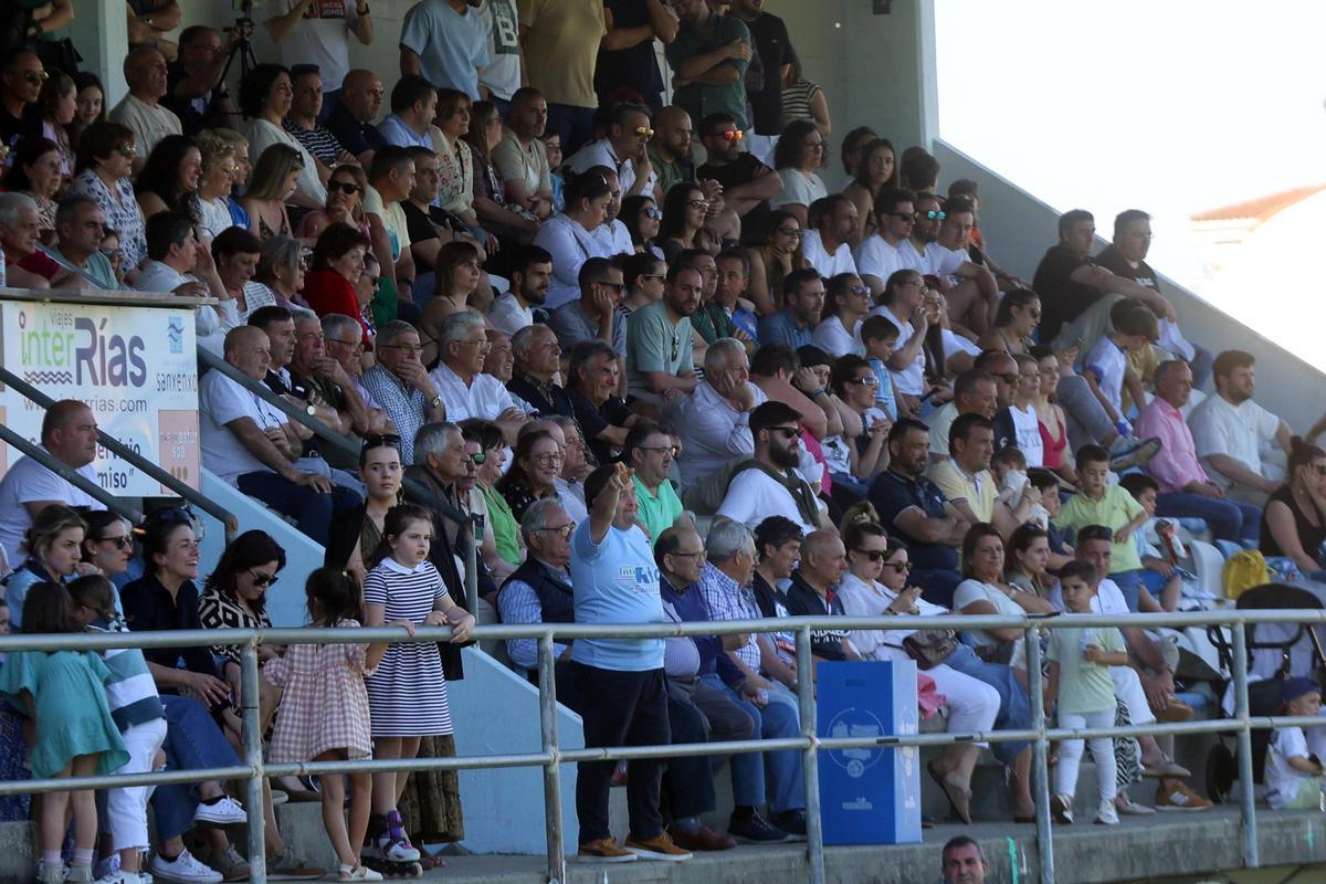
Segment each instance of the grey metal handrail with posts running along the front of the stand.
[[[30,444],[30,443],[29,443]],[[1134,615],[1071,615],[1061,618],[1040,616],[992,616],[992,615],[945,615],[945,616],[883,616],[883,618],[778,618],[762,620],[721,620],[691,623],[655,624],[587,624],[587,623],[538,623],[483,626],[473,630],[475,640],[489,639],[538,639],[540,672],[540,725],[541,751],[505,755],[469,755],[460,758],[412,758],[386,761],[328,761],[265,763],[263,761],[261,730],[259,720],[259,657],[263,643],[273,644],[366,644],[373,641],[412,643],[446,641],[451,637],[450,627],[418,627],[411,636],[403,628],[362,627],[362,628],[271,628],[271,630],[182,630],[159,632],[101,632],[62,635],[9,635],[0,636],[0,653],[17,651],[62,651],[62,649],[107,649],[107,648],[163,648],[163,647],[239,647],[243,669],[243,737],[244,763],[233,767],[211,770],[174,770],[143,774],[110,774],[102,777],[76,777],[61,779],[29,779],[0,782],[0,795],[15,793],[64,791],[70,789],[106,789],[130,785],[162,785],[180,782],[200,782],[206,779],[245,779],[248,812],[248,847],[251,880],[256,884],[267,881],[265,846],[263,839],[263,779],[285,775],[332,775],[353,771],[415,771],[415,770],[477,770],[495,767],[542,767],[544,769],[544,812],[548,836],[548,881],[561,884],[566,880],[566,857],[562,851],[561,779],[560,766],[582,761],[615,761],[630,758],[675,758],[684,755],[723,755],[770,750],[798,750],[802,753],[806,778],[806,836],[810,881],[822,884],[823,834],[819,816],[819,789],[817,753],[838,749],[879,749],[899,746],[943,746],[953,742],[1032,742],[1033,745],[1033,798],[1036,802],[1037,854],[1040,880],[1054,884],[1054,852],[1050,838],[1049,775],[1046,749],[1057,740],[1083,740],[1095,737],[1126,736],[1177,736],[1195,733],[1235,733],[1238,740],[1240,779],[1244,783],[1240,818],[1242,823],[1244,863],[1249,868],[1258,865],[1257,854],[1257,812],[1252,789],[1252,730],[1298,726],[1326,726],[1326,718],[1294,716],[1249,714],[1248,708],[1248,665],[1246,635],[1249,624],[1262,623],[1326,623],[1326,610],[1286,610],[1286,611],[1192,611],[1183,614],[1134,614]],[[1040,691],[1029,692],[1033,728],[1028,730],[994,730],[985,733],[930,733],[898,734],[876,737],[818,737],[815,734],[814,689],[812,683],[810,632],[812,630],[918,630],[918,628],[957,628],[994,630],[1018,628],[1026,636],[1028,668],[1040,671],[1041,630],[1081,628],[1085,626],[1205,626],[1219,624],[1233,631],[1233,687],[1236,713],[1229,718],[1213,721],[1187,721],[1176,724],[1128,725],[1123,728],[1048,728]],[[613,746],[562,750],[557,740],[557,687],[554,679],[554,639],[643,639],[672,637],[690,635],[731,635],[748,632],[794,632],[797,647],[797,696],[801,713],[801,736],[780,740],[737,740],[728,742],[704,742],[667,746]]]

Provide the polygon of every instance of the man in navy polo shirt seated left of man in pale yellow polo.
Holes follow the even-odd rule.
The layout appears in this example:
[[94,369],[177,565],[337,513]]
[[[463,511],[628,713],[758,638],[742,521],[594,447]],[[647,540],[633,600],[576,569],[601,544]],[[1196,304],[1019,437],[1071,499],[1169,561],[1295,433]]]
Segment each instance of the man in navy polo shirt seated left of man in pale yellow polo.
[[949,606],[963,579],[957,573],[957,546],[971,522],[926,477],[930,428],[900,417],[888,431],[888,469],[870,484],[870,502],[880,524],[907,543],[912,577],[926,600]]

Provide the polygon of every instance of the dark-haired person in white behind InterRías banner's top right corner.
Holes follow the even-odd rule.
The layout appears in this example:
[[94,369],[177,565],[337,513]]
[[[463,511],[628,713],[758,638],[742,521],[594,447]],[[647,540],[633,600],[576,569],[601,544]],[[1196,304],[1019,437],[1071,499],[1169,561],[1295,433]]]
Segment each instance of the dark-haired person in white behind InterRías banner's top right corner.
[[217,304],[194,310],[198,345],[221,353],[225,331],[239,323],[235,296],[216,273],[216,262],[198,241],[194,224],[175,212],[158,212],[147,219],[147,262],[134,288],[139,292],[172,292],[211,296]]

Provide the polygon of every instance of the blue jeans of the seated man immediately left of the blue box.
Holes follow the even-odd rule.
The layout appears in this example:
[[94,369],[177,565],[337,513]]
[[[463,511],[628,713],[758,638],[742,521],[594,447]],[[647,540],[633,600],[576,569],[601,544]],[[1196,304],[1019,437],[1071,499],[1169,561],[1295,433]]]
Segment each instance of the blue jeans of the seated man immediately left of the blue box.
[[[801,733],[797,698],[781,685],[774,685],[776,689],[769,692],[769,705],[761,709],[743,700],[741,694],[723,684],[717,675],[700,676],[700,680],[727,691],[751,716],[754,733],[760,734],[761,740],[796,737]],[[768,797],[770,815],[805,808],[806,783],[801,771],[801,753],[794,749],[732,755],[732,803],[737,807],[765,804],[766,778],[773,786],[773,794]]]

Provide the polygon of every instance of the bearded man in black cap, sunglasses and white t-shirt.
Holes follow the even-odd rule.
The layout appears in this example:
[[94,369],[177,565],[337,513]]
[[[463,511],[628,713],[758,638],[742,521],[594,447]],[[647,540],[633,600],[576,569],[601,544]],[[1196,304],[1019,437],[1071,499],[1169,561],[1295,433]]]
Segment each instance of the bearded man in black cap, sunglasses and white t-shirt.
[[751,460],[756,465],[732,476],[717,516],[751,529],[769,516],[784,516],[806,534],[833,527],[827,506],[796,469],[801,460],[800,420],[801,412],[781,402],[766,402],[751,412]]

